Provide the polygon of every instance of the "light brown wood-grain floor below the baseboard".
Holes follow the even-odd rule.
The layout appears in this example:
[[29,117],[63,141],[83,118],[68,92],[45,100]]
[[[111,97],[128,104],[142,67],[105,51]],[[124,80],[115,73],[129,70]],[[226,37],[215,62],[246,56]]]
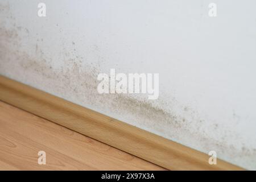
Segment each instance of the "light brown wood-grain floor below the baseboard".
[[[38,152],[46,152],[46,165]],[[0,101],[1,170],[163,170]]]

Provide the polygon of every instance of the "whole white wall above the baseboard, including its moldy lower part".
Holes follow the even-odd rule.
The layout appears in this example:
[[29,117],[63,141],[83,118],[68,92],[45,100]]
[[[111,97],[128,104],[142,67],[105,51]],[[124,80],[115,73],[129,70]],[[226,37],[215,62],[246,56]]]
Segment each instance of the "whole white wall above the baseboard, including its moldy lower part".
[[[256,169],[256,1],[0,1],[0,74]],[[99,73],[159,73],[159,98]]]

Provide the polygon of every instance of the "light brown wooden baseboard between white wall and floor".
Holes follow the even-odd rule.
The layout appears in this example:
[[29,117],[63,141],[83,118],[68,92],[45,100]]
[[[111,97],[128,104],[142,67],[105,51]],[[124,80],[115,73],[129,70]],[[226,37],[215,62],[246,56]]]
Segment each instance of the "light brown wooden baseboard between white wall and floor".
[[0,100],[171,170],[242,170],[171,140],[0,75]]

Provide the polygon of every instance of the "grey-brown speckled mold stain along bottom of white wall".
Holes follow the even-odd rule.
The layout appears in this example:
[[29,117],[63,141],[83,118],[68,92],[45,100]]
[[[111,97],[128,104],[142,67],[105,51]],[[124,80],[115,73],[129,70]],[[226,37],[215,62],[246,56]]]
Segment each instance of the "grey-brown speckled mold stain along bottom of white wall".
[[[74,47],[72,50],[67,50],[65,45],[61,49],[61,67],[55,67],[54,60],[47,57],[40,47],[43,38],[38,37],[34,53],[24,51],[22,40],[29,38],[30,31],[15,23],[9,5],[0,5],[0,9],[1,75],[205,153],[214,149],[220,158],[230,163],[256,168],[255,148],[248,148],[246,144],[241,144],[242,148],[229,144],[226,138],[235,140],[241,136],[220,128],[217,123],[209,126],[189,106],[180,106],[182,112],[178,114],[172,110],[179,105],[175,98],[162,96],[157,101],[150,101],[139,94],[98,94],[97,76],[102,72],[102,65],[107,63],[85,61],[76,51],[75,42],[70,43]],[[210,137],[203,126],[211,127],[216,134],[221,132],[222,139]]]

